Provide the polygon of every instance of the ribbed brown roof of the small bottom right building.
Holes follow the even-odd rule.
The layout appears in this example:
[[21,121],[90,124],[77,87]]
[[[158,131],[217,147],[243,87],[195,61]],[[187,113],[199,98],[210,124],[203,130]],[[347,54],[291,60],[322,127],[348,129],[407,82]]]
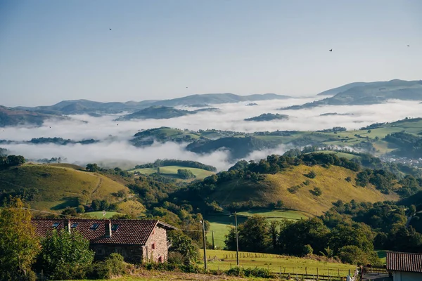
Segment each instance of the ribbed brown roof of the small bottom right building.
[[422,273],[422,254],[388,251],[387,270]]

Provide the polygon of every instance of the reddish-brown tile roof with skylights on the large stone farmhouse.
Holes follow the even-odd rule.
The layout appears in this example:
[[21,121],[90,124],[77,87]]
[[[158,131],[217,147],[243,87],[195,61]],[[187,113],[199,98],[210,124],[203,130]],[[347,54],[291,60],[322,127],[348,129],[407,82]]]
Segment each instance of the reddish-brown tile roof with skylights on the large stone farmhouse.
[[[77,230],[82,236],[89,240],[91,244],[139,244],[144,245],[153,233],[156,226],[166,229],[176,229],[167,223],[153,220],[108,220],[108,219],[84,219],[84,218],[32,218],[35,226],[35,233],[40,237],[45,237],[53,228],[53,223],[60,223],[57,230],[61,230],[70,225],[76,224],[71,231]],[[92,229],[94,223],[98,224],[96,229]],[[112,231],[111,237],[106,237],[106,227],[108,223],[117,225],[117,230]]]

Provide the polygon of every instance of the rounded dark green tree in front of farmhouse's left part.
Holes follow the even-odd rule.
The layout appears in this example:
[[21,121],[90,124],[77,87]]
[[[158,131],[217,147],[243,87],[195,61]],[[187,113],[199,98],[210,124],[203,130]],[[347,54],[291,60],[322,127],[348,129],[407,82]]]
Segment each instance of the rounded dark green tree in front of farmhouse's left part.
[[41,242],[39,264],[51,279],[82,279],[94,261],[94,251],[77,231],[53,230]]

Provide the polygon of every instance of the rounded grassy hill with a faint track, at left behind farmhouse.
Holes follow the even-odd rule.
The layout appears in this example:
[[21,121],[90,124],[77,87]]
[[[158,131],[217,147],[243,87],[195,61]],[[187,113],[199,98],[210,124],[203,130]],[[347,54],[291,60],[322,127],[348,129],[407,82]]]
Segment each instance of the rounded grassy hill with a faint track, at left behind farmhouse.
[[91,199],[115,201],[112,193],[127,190],[112,179],[63,166],[26,164],[0,171],[0,188],[37,188],[39,200],[30,202],[35,209],[64,209],[75,206],[84,190]]

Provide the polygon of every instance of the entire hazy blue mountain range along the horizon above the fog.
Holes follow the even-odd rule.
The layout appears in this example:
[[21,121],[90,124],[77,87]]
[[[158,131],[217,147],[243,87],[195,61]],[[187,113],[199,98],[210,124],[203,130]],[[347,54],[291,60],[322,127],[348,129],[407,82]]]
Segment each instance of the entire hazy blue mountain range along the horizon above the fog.
[[[422,100],[422,81],[376,81],[354,82],[328,91],[319,93],[317,96],[330,96],[322,100],[303,105],[293,105],[280,108],[280,110],[300,110],[324,105],[371,105],[385,103],[386,100]],[[158,111],[165,114],[159,118],[172,118],[193,114],[198,111],[172,109],[176,106],[216,105],[222,103],[239,103],[258,100],[283,100],[290,96],[277,95],[275,93],[254,94],[250,96],[238,96],[233,93],[207,93],[203,95],[191,95],[169,100],[142,100],[140,102],[128,101],[126,103],[112,102],[101,103],[91,100],[63,100],[60,103],[49,106],[37,107],[4,107],[0,106],[0,127],[30,124],[40,126],[46,119],[63,119],[63,115],[88,114],[98,117],[106,114],[129,112],[122,119],[145,119],[156,118]],[[254,103],[251,103],[252,105]],[[201,106],[202,107],[202,106]],[[148,109],[149,108],[149,109]],[[203,109],[205,110],[205,109]]]

